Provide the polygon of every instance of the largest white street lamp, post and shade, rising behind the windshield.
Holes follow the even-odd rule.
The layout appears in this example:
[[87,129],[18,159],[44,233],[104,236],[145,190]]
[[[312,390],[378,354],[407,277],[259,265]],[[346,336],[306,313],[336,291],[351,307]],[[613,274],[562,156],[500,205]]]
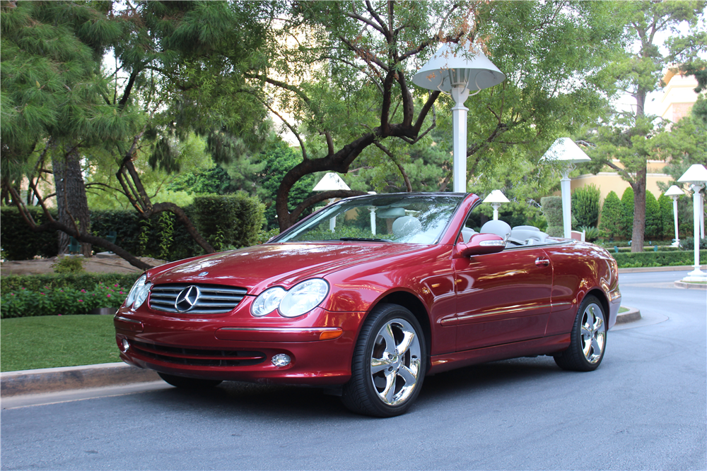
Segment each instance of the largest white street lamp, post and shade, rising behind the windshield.
[[[494,66],[481,50],[472,49],[455,52],[455,44],[442,44],[432,59],[415,74],[412,83],[428,90],[451,93],[455,106],[452,108],[454,121],[453,181],[454,191],[467,191],[467,112],[464,102],[469,90],[493,87],[506,80],[506,76]],[[464,57],[467,55],[470,59]]]

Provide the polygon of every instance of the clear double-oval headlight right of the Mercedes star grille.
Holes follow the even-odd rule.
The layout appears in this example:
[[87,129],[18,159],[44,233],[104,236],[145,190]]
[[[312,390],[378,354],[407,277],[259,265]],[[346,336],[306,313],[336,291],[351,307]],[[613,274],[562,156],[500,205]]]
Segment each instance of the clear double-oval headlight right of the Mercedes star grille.
[[289,291],[281,287],[270,288],[255,298],[250,306],[250,314],[260,317],[278,309],[283,317],[301,316],[324,301],[327,294],[329,283],[320,278],[303,281]]

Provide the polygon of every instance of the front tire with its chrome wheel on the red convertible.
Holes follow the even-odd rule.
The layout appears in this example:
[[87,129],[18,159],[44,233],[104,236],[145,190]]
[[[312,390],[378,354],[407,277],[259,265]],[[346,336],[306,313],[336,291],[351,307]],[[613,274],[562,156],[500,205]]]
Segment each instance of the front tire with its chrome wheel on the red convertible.
[[351,379],[341,391],[341,401],[362,415],[404,414],[420,393],[426,369],[420,323],[402,306],[380,304],[358,335]]

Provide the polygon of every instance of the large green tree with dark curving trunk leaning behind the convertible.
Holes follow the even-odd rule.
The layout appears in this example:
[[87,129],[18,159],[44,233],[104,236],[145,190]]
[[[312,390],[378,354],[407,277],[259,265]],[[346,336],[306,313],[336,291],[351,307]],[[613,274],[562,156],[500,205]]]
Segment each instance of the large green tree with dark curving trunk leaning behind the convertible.
[[[463,7],[393,1],[292,6],[291,20],[271,36],[269,68],[247,74],[255,88],[269,90],[274,105],[266,104],[274,112],[293,116],[286,126],[302,147],[302,162],[278,190],[281,228],[307,205],[360,193],[325,192],[290,210],[289,192],[305,175],[346,174],[361,168],[352,167],[358,157],[374,153],[405,168],[403,156],[411,153],[398,149],[429,138],[438,124],[448,135],[439,144],[448,147],[451,100],[411,85],[441,42],[458,44],[460,54],[484,50],[508,77],[467,101],[474,117],[469,173],[510,163],[518,155],[508,152],[514,147],[537,160],[560,133],[593,119],[612,92],[607,64],[623,34],[619,13],[625,8],[614,2],[482,1]],[[288,47],[285,37],[298,37],[298,44]]]

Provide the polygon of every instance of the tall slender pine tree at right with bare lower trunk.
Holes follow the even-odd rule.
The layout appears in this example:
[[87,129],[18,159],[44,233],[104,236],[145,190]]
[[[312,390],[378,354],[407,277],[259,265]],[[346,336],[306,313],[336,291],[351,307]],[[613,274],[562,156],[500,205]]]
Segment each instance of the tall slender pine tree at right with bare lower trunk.
[[[645,97],[660,87],[663,68],[670,62],[657,44],[661,33],[677,32],[679,26],[696,28],[704,12],[704,1],[634,1],[626,2],[629,20],[626,34],[631,42],[625,54],[611,64],[624,91],[636,102],[631,112],[610,116],[595,137],[599,143],[594,153],[597,163],[616,170],[635,193],[631,251],[643,251],[645,237],[645,191],[647,160],[658,156],[664,143],[660,136],[664,124],[645,115]],[[680,36],[674,37],[674,42]],[[615,165],[612,159],[619,159]]]

